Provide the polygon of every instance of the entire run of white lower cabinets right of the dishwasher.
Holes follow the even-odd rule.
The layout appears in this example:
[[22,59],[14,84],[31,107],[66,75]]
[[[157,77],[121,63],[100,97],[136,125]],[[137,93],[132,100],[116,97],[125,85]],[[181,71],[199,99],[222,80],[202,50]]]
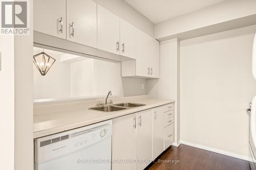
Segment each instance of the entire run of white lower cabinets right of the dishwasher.
[[174,124],[164,127],[166,107],[113,119],[112,170],[142,170],[170,146]]

